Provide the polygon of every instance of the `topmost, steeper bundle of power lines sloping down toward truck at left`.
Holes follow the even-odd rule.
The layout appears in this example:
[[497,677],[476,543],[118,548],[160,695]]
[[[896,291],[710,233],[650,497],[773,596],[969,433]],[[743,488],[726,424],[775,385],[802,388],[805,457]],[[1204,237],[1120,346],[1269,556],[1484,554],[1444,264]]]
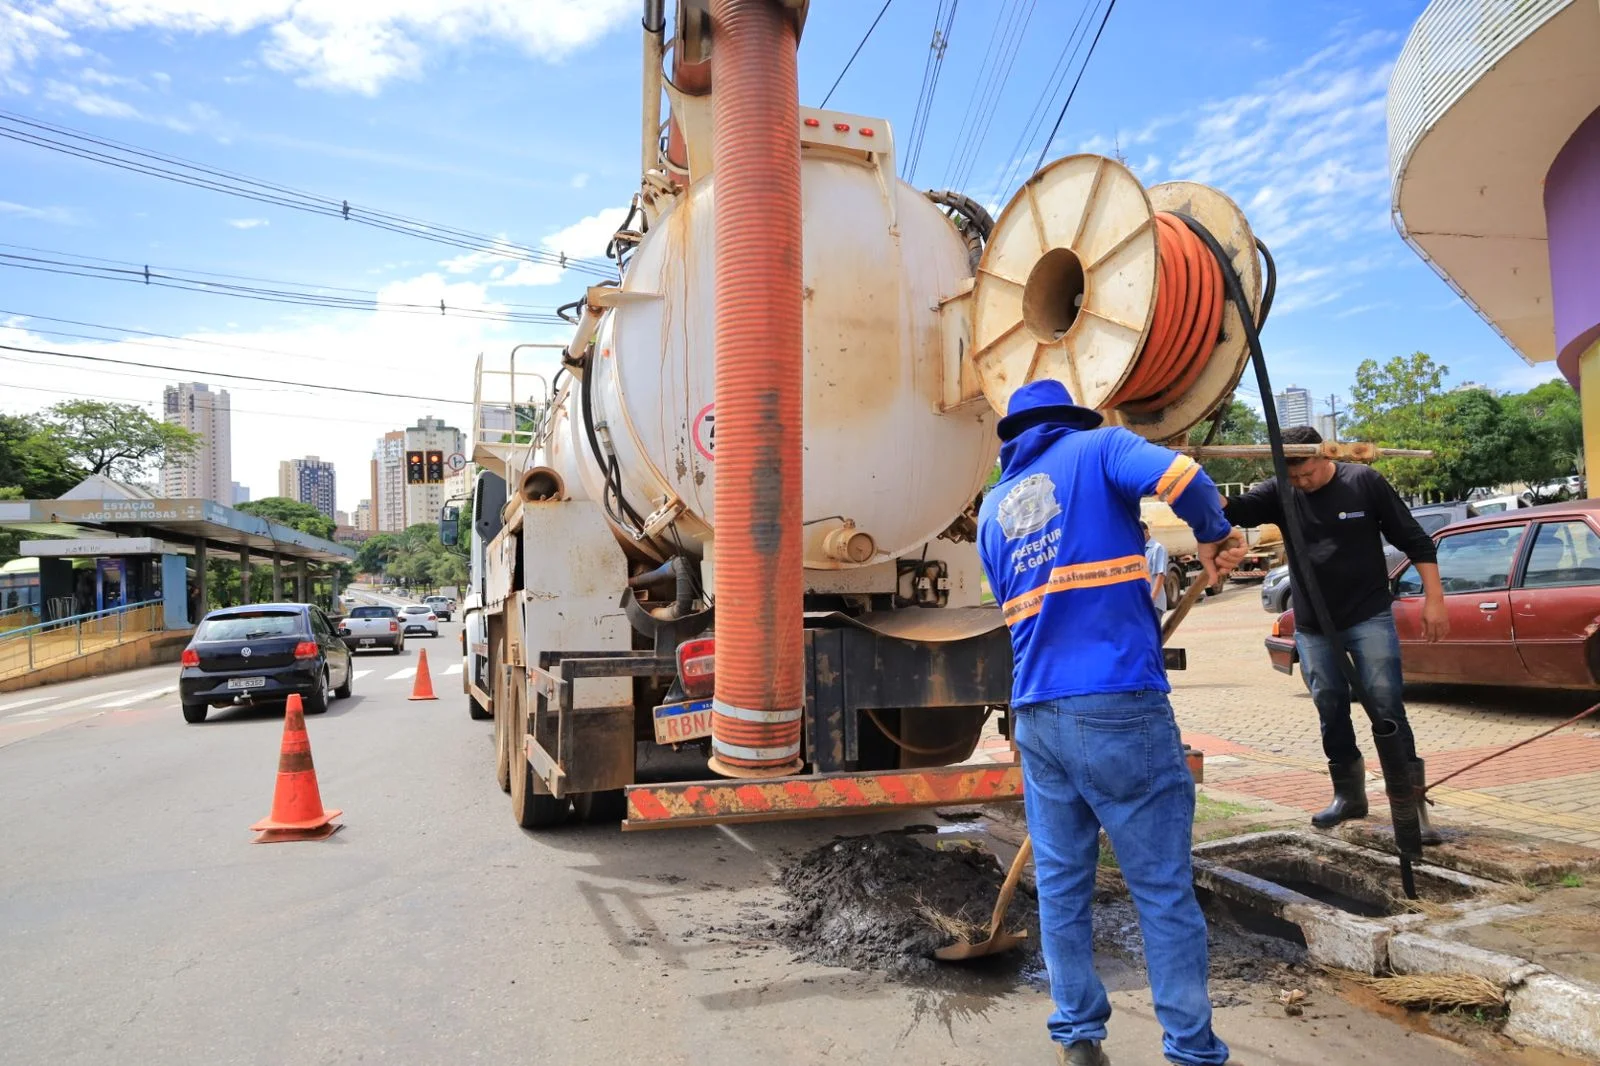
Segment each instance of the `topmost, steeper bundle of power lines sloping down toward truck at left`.
[[534,248],[488,234],[477,234],[454,226],[427,222],[422,219],[354,205],[349,200],[325,197],[306,192],[291,186],[283,186],[259,178],[250,178],[235,171],[221,170],[206,163],[186,160],[178,155],[166,155],[150,149],[138,147],[125,141],[99,138],[82,130],[61,126],[42,118],[30,118],[10,110],[0,110],[0,138],[48,149],[62,155],[104,163],[147,178],[162,178],[195,189],[221,192],[226,195],[254,200],[294,211],[339,218],[347,222],[360,222],[374,229],[389,230],[405,237],[418,237],[434,243],[466,248],[469,251],[486,251],[507,259],[539,262],[573,269],[595,277],[611,277],[614,269],[603,259],[568,256],[565,251]]

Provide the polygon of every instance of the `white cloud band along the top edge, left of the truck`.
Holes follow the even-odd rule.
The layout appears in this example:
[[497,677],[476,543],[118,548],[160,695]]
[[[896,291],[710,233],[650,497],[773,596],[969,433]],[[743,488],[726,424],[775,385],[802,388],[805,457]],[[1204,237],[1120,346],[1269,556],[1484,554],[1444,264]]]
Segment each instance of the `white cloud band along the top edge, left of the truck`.
[[[46,0],[13,19],[21,45],[10,62],[32,62],[42,40],[64,40],[70,30],[262,34],[269,67],[301,85],[371,96],[387,82],[416,77],[434,46],[510,43],[558,61],[626,24],[637,8],[637,0]],[[5,37],[0,29],[0,42]],[[0,74],[5,50],[0,43]]]

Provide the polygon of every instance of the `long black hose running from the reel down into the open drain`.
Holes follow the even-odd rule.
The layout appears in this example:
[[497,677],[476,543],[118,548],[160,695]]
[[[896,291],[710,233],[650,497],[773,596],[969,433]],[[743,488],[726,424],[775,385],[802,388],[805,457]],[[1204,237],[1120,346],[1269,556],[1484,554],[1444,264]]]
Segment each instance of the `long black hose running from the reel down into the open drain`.
[[[1245,341],[1250,344],[1250,359],[1256,370],[1256,386],[1261,389],[1262,397],[1270,397],[1272,379],[1267,375],[1267,359],[1261,349],[1261,330],[1256,327],[1256,315],[1250,311],[1250,301],[1245,298],[1245,287],[1238,280],[1238,272],[1234,271],[1232,259],[1227,251],[1224,251],[1221,242],[1211,235],[1211,230],[1187,214],[1179,213],[1178,218],[1181,218],[1184,224],[1202,242],[1205,242],[1206,248],[1210,248],[1211,254],[1216,258],[1218,266],[1222,271],[1222,283],[1227,288],[1227,296],[1238,309],[1240,325],[1245,330]],[[1275,264],[1272,272],[1275,275]],[[1328,602],[1323,599],[1322,584],[1317,581],[1317,575],[1310,567],[1310,554],[1306,549],[1304,520],[1299,514],[1299,498],[1294,493],[1294,487],[1290,483],[1288,461],[1283,458],[1283,431],[1278,424],[1277,408],[1266,402],[1261,408],[1267,423],[1267,440],[1272,445],[1272,474],[1277,480],[1278,501],[1282,503],[1283,511],[1283,533],[1286,535],[1290,547],[1288,565],[1296,583],[1296,595],[1299,595],[1299,592],[1306,592],[1312,607],[1312,615],[1317,618],[1317,624],[1322,627],[1323,637],[1330,645],[1333,645],[1334,658],[1339,663],[1339,672],[1344,675],[1350,691],[1355,693],[1362,709],[1371,720],[1373,746],[1378,747],[1379,763],[1384,771],[1384,791],[1389,794],[1389,812],[1395,831],[1395,850],[1400,853],[1402,885],[1406,896],[1414,900],[1416,885],[1411,874],[1411,860],[1422,855],[1422,834],[1418,821],[1416,804],[1406,802],[1406,797],[1414,794],[1414,787],[1410,781],[1410,767],[1400,765],[1403,762],[1403,757],[1397,751],[1400,723],[1395,719],[1379,715],[1373,707],[1366,687],[1362,683],[1360,672],[1350,661],[1344,637],[1334,626],[1333,613],[1328,610]],[[1386,754],[1389,754],[1387,759]]]

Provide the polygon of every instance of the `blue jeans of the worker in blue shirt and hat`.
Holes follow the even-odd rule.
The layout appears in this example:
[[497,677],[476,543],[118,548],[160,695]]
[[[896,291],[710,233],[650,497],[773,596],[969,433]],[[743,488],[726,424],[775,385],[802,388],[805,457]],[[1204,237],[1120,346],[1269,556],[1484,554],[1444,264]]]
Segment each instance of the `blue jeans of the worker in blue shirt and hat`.
[[1067,696],[1014,709],[1022,800],[1034,834],[1038,924],[1050,970],[1050,1037],[1106,1039],[1110,1002],[1094,973],[1090,903],[1106,829],[1144,932],[1166,1058],[1219,1066],[1205,916],[1189,864],[1195,786],[1166,695]]

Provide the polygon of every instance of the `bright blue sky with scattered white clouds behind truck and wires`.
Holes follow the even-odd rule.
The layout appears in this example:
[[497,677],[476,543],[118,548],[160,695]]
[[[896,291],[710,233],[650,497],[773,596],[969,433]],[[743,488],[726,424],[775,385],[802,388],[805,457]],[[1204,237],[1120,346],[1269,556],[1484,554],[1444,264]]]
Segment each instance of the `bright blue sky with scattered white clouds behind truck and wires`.
[[[800,46],[802,102],[821,102],[878,6],[813,0]],[[894,0],[830,107],[886,118],[904,142],[936,6]],[[1216,5],[1118,0],[1051,157],[1120,152],[1146,182],[1205,181],[1245,206],[1280,264],[1264,335],[1278,387],[1342,394],[1362,359],[1418,349],[1448,363],[1454,381],[1522,389],[1557,376],[1549,365],[1526,367],[1390,227],[1384,91],[1424,3],[1227,6],[1218,16]],[[634,0],[0,0],[0,109],[352,203],[598,256],[638,184],[638,10]],[[960,3],[914,184],[960,176],[965,192],[1005,203],[1038,152],[1038,139],[1018,150],[1029,144],[1029,117],[1045,114],[1046,128],[1054,120],[1059,94],[1045,109],[1037,104],[1080,14],[1078,0]],[[984,61],[1005,51],[1006,27],[1019,46],[1008,77],[990,82],[990,70],[1005,67]],[[984,85],[997,101],[987,107],[976,104]],[[0,141],[0,242],[152,269],[371,290],[392,303],[554,307],[586,283],[557,267],[13,141]],[[154,341],[170,346],[157,349],[42,317],[202,344]],[[278,459],[315,453],[338,464],[347,509],[368,495],[366,459],[384,429],[422,415],[466,429],[469,408],[445,400],[470,399],[475,355],[550,339],[562,335],[547,327],[306,309],[0,269],[0,344],[142,363],[86,371],[0,352],[8,411],[75,394],[154,402],[168,381],[205,381],[219,370],[438,397],[339,399],[214,379],[234,397],[235,480],[254,496],[270,495]]]

